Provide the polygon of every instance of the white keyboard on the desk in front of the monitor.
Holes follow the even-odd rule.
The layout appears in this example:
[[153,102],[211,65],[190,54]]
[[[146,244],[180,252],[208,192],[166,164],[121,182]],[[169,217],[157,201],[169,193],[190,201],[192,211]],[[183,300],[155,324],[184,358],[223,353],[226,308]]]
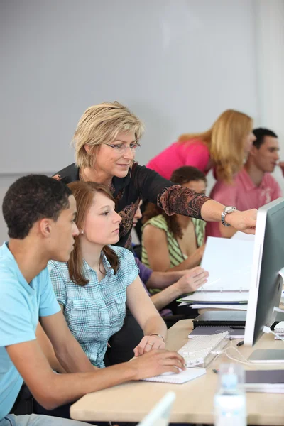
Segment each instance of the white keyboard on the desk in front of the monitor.
[[228,344],[228,332],[213,334],[212,336],[195,336],[183,345],[178,353],[183,356],[187,367],[206,367],[212,359]]

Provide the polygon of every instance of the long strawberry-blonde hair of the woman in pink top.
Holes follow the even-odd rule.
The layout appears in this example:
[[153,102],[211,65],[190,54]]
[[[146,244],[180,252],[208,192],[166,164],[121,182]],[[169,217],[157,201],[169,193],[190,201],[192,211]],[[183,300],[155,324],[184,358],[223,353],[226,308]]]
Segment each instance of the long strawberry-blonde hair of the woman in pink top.
[[245,160],[245,139],[253,129],[253,120],[243,112],[227,109],[203,133],[185,133],[180,143],[199,139],[210,151],[216,167],[217,178],[230,183],[233,175],[241,170]]

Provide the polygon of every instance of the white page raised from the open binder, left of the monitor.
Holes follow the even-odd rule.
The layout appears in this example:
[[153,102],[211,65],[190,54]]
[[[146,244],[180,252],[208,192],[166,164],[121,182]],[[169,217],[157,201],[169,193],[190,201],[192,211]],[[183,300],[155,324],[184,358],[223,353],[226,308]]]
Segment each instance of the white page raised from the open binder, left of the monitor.
[[201,266],[209,271],[208,282],[197,292],[249,290],[254,241],[209,236]]

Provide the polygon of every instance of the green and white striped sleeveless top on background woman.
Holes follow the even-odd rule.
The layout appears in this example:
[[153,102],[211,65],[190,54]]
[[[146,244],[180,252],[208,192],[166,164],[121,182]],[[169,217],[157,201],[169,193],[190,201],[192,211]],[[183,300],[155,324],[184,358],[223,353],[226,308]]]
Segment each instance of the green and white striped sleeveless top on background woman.
[[[205,230],[206,222],[199,219],[192,218],[192,223],[195,227],[197,247],[200,247],[202,246],[202,244],[204,244],[204,230]],[[173,232],[170,231],[167,221],[162,214],[158,214],[158,216],[151,217],[151,219],[149,219],[146,222],[146,224],[143,225],[143,229],[148,224],[151,224],[152,226],[155,226],[155,228],[162,229],[163,231],[165,231],[165,234],[167,236],[168,253],[170,257],[170,268],[180,265],[180,263],[182,263],[183,261],[185,261],[185,259],[187,259],[187,255],[185,253],[182,253],[182,250],[180,249],[180,244],[178,244],[178,239],[176,239]],[[144,265],[150,268],[150,263],[148,261],[148,254],[143,244],[143,236],[142,236],[142,262],[144,263]]]

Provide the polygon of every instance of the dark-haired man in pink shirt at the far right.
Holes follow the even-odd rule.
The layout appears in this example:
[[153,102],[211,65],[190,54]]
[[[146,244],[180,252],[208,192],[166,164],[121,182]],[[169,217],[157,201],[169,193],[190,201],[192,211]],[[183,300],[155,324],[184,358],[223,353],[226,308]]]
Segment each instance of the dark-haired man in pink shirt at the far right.
[[[216,182],[210,197],[236,209],[258,209],[281,197],[280,186],[273,178],[275,166],[279,160],[279,142],[277,135],[269,129],[254,129],[255,141],[244,168],[236,175],[234,182]],[[230,238],[236,229],[219,226],[211,222],[206,229],[207,236]]]

